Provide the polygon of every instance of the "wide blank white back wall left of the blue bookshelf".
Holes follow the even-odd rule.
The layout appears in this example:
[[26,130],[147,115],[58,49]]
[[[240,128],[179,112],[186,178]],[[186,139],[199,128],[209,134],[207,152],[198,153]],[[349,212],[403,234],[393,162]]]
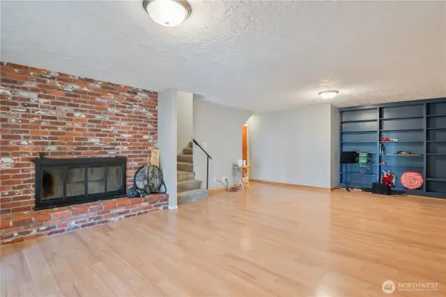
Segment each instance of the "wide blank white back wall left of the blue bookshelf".
[[331,188],[331,114],[330,104],[254,114],[250,178]]

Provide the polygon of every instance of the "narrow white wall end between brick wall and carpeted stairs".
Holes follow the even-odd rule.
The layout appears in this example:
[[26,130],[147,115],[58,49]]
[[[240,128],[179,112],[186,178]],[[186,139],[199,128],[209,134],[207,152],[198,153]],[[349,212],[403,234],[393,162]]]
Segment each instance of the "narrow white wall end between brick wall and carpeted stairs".
[[158,93],[158,148],[160,168],[169,194],[169,209],[177,207],[176,193],[176,90],[163,90]]

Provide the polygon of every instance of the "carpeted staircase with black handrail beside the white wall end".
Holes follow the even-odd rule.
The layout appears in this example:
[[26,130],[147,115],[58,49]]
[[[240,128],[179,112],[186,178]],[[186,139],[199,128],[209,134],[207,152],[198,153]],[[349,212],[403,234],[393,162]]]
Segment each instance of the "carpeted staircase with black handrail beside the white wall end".
[[208,190],[201,187],[201,181],[195,180],[193,144],[183,149],[177,157],[178,204],[194,202],[208,198]]

